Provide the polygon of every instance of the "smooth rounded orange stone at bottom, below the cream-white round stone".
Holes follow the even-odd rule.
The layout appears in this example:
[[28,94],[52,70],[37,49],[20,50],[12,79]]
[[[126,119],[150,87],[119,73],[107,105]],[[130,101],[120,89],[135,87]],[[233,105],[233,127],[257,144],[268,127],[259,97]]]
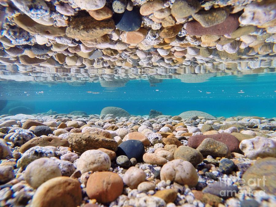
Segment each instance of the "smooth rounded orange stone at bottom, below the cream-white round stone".
[[123,192],[123,179],[113,172],[95,172],[87,180],[86,193],[101,203],[114,201]]

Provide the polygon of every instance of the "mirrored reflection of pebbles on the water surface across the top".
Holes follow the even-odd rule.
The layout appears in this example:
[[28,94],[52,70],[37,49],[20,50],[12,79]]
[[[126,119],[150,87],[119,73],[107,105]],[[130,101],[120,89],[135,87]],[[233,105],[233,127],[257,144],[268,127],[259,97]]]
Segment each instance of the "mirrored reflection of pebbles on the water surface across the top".
[[275,72],[275,10],[273,0],[2,0],[0,79]]

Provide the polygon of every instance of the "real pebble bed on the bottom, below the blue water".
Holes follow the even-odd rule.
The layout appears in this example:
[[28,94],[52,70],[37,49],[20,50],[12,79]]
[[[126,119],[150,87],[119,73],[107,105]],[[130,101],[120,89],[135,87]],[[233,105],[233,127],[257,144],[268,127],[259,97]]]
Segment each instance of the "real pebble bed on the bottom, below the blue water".
[[1,115],[0,206],[275,205],[275,117],[159,114]]

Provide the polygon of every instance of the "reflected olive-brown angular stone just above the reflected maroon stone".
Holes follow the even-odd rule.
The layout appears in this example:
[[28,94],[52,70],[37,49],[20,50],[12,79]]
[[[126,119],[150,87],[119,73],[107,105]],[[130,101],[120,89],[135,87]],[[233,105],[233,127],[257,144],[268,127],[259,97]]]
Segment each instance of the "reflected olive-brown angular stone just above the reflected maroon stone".
[[229,16],[230,10],[227,7],[201,10],[193,14],[193,18],[198,21],[203,27],[211,27],[225,21]]

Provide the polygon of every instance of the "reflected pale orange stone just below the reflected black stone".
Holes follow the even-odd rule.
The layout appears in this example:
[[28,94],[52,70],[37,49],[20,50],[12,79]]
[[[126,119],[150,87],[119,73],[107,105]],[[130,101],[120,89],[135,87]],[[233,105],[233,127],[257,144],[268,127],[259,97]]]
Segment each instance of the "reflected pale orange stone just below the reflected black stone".
[[142,42],[148,34],[148,30],[144,28],[140,28],[137,31],[132,32],[122,32],[121,39],[123,42],[127,44],[136,45]]

